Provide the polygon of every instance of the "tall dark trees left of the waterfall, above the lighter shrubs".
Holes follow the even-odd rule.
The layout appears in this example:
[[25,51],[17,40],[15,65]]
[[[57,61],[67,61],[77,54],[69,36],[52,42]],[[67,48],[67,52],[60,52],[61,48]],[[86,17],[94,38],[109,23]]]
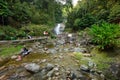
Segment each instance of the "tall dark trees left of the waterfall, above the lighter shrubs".
[[0,1],[1,25],[9,24],[16,27],[26,23],[54,25],[61,22],[61,18],[62,4],[54,0]]

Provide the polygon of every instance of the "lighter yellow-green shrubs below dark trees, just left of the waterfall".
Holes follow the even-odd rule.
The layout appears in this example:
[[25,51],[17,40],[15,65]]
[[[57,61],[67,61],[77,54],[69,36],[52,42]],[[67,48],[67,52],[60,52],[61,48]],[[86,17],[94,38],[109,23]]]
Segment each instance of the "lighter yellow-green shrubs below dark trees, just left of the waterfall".
[[50,27],[46,25],[35,25],[35,24],[29,24],[27,26],[22,27],[22,29],[26,34],[29,34],[31,36],[43,36],[43,32],[47,31],[50,32]]

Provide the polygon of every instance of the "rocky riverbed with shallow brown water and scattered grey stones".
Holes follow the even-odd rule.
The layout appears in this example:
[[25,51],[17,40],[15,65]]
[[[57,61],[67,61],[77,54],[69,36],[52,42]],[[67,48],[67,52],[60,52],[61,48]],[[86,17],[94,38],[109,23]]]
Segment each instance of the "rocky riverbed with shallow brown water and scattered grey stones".
[[[32,52],[21,61],[16,61],[17,55],[0,59],[0,80],[105,80],[90,59],[93,46],[87,47],[89,40],[72,35],[27,43]],[[80,64],[75,53],[82,54],[87,65]]]

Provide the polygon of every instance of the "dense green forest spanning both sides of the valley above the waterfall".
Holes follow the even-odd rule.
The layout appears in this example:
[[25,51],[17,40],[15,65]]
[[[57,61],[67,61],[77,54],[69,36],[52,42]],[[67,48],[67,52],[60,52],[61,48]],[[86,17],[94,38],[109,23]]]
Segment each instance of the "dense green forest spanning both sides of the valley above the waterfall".
[[[0,26],[0,39],[25,34],[40,35],[43,30],[49,30],[61,22],[74,31],[104,21],[120,23],[120,0],[75,0],[78,1],[76,6],[73,1],[0,0],[0,25],[9,26],[5,29]],[[20,30],[19,33],[13,28]]]

